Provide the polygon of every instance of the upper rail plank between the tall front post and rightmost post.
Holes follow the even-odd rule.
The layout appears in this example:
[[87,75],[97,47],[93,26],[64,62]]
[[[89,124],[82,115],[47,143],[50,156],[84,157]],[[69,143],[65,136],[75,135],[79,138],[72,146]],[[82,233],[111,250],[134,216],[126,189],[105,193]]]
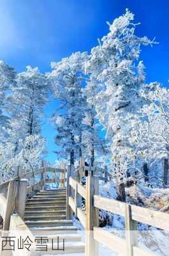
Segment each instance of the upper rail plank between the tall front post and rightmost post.
[[94,195],[94,207],[125,216],[125,203]]

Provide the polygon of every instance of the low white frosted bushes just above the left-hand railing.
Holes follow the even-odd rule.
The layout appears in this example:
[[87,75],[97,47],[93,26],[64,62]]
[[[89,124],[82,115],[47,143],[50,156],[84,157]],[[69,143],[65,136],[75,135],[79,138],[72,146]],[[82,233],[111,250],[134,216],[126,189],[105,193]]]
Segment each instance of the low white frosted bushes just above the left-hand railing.
[[15,152],[15,144],[11,142],[0,144],[0,183],[17,175],[17,168],[22,173],[40,168],[45,153],[45,140],[39,135],[29,135],[20,139],[20,152]]

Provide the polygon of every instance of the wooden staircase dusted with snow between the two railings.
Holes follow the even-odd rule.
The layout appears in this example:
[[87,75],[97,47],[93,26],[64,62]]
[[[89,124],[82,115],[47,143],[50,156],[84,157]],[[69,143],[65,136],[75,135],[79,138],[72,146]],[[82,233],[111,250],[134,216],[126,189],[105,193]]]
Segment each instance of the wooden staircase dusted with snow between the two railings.
[[40,252],[41,255],[56,254],[51,241],[56,241],[57,236],[59,247],[64,239],[64,251],[59,250],[57,254],[84,253],[85,244],[81,242],[77,227],[73,226],[72,220],[66,220],[66,188],[40,191],[27,200],[24,222],[36,237],[48,238],[48,250]]

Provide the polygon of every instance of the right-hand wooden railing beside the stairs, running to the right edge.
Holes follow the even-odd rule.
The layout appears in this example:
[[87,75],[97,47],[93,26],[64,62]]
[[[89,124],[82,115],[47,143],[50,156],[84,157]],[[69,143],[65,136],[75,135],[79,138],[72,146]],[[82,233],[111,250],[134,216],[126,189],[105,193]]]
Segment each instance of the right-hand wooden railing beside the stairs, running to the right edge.
[[[71,218],[71,214],[74,212],[86,230],[85,256],[98,255],[97,243],[105,244],[122,256],[154,255],[138,247],[138,222],[169,231],[168,214],[99,196],[98,177],[89,175],[85,186],[73,179],[71,175],[68,180],[67,218]],[[80,198],[85,198],[85,212],[81,209],[82,200]],[[125,218],[126,239],[99,228],[99,209],[119,214]]]

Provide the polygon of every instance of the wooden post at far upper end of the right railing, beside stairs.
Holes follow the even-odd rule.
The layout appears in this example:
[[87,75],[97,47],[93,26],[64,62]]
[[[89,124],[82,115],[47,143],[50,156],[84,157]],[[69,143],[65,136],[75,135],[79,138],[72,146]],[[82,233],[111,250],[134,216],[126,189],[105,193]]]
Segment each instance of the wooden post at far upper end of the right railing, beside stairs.
[[72,220],[73,211],[69,205],[69,197],[71,196],[70,177],[72,177],[73,165],[68,165],[66,179],[66,220]]

